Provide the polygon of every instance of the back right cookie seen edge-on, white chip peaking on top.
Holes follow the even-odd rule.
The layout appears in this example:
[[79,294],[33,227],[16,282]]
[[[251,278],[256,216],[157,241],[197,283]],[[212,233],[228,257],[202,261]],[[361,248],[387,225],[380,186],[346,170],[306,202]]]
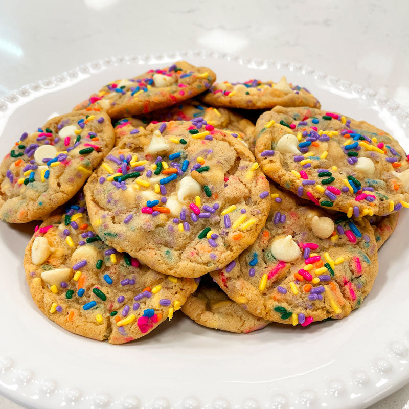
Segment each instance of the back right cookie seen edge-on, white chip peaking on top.
[[321,107],[320,102],[306,88],[288,84],[285,77],[277,83],[260,80],[219,82],[200,99],[206,104],[227,108],[271,109],[277,105]]

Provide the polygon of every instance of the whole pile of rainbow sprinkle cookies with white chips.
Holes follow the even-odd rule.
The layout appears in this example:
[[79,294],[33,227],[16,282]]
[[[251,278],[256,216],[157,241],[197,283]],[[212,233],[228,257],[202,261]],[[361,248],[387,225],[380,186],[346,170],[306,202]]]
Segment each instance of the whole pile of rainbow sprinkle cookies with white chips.
[[50,320],[112,344],[179,309],[248,333],[371,291],[409,207],[399,143],[285,77],[215,79],[179,61],[110,82],[4,158],[0,218],[44,220],[24,267]]

